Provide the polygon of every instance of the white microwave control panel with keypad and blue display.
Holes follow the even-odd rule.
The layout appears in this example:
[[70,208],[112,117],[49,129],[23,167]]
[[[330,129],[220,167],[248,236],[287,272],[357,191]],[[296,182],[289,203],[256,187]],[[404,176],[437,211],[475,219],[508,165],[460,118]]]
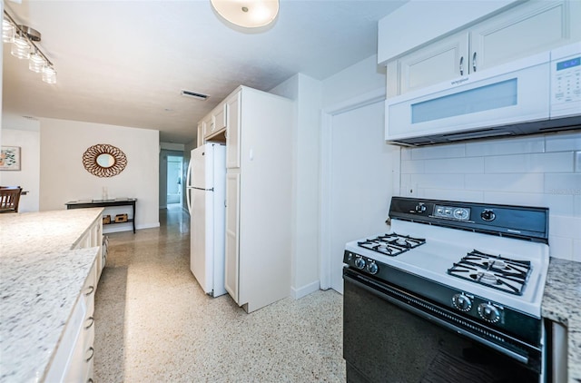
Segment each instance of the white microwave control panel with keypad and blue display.
[[[578,48],[578,47],[577,47]],[[551,60],[551,114],[578,114],[581,107],[581,53]]]

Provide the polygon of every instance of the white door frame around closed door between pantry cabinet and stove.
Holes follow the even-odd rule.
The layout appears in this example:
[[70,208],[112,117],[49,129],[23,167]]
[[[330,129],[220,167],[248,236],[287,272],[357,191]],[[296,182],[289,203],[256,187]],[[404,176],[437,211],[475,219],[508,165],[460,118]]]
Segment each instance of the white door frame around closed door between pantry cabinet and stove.
[[372,103],[385,101],[385,87],[359,94],[346,101],[321,109],[320,112],[320,289],[331,288],[331,253],[330,253],[330,193],[331,193],[331,142],[333,116],[359,109]]

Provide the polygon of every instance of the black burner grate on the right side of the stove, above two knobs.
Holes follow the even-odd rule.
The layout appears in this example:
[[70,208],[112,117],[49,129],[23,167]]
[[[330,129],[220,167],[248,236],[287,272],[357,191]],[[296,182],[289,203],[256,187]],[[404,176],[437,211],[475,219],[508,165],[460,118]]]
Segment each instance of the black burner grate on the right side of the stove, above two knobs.
[[528,260],[511,260],[472,250],[448,269],[448,274],[493,289],[522,295],[532,270]]

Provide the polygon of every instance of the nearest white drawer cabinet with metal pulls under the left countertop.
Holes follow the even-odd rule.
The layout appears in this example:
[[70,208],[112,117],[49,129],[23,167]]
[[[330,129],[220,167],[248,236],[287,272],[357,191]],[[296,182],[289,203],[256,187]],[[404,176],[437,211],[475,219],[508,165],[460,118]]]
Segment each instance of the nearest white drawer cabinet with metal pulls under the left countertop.
[[97,287],[97,262],[84,283],[73,314],[54,355],[45,382],[94,381],[94,292]]

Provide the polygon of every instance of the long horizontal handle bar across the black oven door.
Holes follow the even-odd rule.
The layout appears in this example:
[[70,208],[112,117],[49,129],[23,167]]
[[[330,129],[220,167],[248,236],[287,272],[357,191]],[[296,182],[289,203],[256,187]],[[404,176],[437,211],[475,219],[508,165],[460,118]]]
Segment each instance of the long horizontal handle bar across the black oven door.
[[[480,343],[483,343],[483,344],[487,345],[488,347],[490,347],[491,349],[496,349],[497,351],[499,351],[499,352],[507,355],[510,358],[514,358],[514,359],[517,359],[521,363],[528,364],[528,358],[527,357],[525,357],[523,355],[520,355],[520,354],[517,354],[516,352],[514,352],[514,351],[512,351],[510,349],[505,349],[503,347],[500,347],[496,343],[493,343],[493,342],[491,342],[491,341],[489,341],[487,339],[482,339],[482,338],[478,337],[478,335],[475,335],[475,334],[473,334],[473,333],[471,333],[471,332],[469,332],[469,331],[467,331],[465,329],[458,328],[457,326],[454,326],[453,324],[448,323],[445,320],[436,318],[436,317],[428,314],[425,311],[422,311],[420,309],[416,309],[413,306],[409,306],[409,305],[401,302],[400,300],[397,300],[397,299],[391,297],[389,294],[386,294],[383,291],[379,291],[376,288],[373,288],[372,286],[369,286],[369,284],[371,284],[371,285],[377,286],[381,290],[385,290],[386,289],[385,287],[379,285],[378,283],[375,283],[372,280],[362,279],[360,277],[359,277],[359,279],[356,279],[358,277],[352,277],[350,274],[347,274],[347,273],[344,273],[343,274],[343,279],[344,280],[349,280],[350,283],[353,283],[353,284],[359,286],[361,289],[367,290],[370,293],[379,296],[379,298],[382,298],[384,300],[388,300],[390,303],[398,306],[401,309],[405,309],[405,310],[408,310],[409,312],[413,312],[414,314],[418,315],[421,318],[428,319],[428,320],[431,320],[433,322],[438,323],[438,325],[441,326],[441,327],[443,327],[443,328],[451,329],[453,331],[456,331],[456,332],[458,332],[458,334],[463,335],[465,337],[468,337],[469,339],[476,340],[476,341],[478,341]],[[361,280],[364,280],[364,281],[361,281]],[[417,299],[417,298],[415,298],[415,299]]]

